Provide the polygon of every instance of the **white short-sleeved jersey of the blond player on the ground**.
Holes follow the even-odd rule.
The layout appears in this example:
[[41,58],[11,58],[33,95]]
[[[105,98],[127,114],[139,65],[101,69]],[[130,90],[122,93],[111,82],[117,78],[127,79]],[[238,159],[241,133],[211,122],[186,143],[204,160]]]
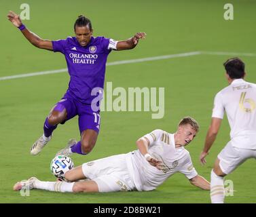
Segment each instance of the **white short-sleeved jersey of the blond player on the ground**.
[[197,176],[189,152],[181,146],[175,148],[174,134],[154,130],[145,135],[149,140],[148,153],[163,162],[162,170],[151,165],[139,150],[126,154],[126,163],[138,191],[151,191],[176,172],[185,174],[188,179]]

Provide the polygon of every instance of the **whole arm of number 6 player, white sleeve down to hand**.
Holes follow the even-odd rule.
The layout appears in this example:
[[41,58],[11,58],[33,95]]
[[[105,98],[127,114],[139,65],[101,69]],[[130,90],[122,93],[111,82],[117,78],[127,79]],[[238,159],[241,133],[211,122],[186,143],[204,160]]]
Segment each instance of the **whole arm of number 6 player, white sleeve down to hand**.
[[225,108],[221,100],[221,92],[219,92],[215,96],[211,125],[206,134],[204,149],[200,154],[200,162],[202,164],[206,163],[205,157],[208,155],[208,152],[211,149],[213,142],[215,142],[215,139],[217,138],[217,134],[219,132],[219,128],[221,127],[221,121],[223,119],[224,113]]

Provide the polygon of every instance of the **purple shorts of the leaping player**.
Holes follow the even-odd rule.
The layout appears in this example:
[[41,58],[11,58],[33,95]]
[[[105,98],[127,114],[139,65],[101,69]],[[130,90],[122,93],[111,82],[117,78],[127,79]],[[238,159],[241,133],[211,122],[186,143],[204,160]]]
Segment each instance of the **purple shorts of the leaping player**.
[[62,124],[78,115],[80,134],[88,129],[97,133],[100,131],[100,111],[92,111],[90,104],[82,104],[78,100],[64,96],[54,110],[61,111],[64,108],[67,110],[67,119]]

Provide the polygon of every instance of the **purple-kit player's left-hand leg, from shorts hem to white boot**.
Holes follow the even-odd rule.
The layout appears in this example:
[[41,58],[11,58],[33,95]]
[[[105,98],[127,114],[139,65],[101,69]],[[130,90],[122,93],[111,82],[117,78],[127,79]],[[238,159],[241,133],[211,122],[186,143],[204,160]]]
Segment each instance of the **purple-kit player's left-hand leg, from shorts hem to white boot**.
[[45,119],[43,124],[43,136],[40,136],[31,147],[31,155],[37,155],[43,147],[51,140],[52,132],[56,129],[58,123],[67,119],[67,110],[62,104],[57,104]]

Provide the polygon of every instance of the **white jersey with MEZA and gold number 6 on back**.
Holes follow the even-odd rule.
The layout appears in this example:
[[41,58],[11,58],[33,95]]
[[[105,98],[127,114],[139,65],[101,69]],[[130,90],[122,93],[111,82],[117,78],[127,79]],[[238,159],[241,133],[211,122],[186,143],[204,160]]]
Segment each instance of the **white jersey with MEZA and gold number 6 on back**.
[[215,96],[213,115],[230,123],[232,146],[256,149],[256,84],[235,79]]

